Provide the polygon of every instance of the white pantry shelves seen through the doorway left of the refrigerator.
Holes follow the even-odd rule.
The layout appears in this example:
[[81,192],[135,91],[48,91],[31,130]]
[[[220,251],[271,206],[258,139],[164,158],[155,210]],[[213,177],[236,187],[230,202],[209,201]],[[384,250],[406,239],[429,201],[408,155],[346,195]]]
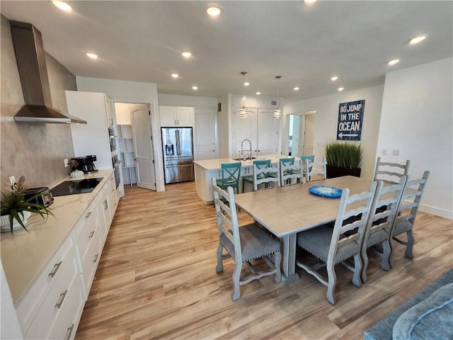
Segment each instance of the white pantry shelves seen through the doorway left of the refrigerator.
[[132,186],[132,184],[137,183],[132,125],[118,125],[117,133],[121,159],[122,181],[124,184],[130,184]]

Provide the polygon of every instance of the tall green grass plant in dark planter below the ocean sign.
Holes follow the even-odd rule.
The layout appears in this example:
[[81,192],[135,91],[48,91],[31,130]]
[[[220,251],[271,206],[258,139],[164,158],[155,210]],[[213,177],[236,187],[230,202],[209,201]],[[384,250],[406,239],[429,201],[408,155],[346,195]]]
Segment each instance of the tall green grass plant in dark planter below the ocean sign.
[[340,176],[360,177],[362,145],[353,142],[330,142],[326,145],[327,178]]

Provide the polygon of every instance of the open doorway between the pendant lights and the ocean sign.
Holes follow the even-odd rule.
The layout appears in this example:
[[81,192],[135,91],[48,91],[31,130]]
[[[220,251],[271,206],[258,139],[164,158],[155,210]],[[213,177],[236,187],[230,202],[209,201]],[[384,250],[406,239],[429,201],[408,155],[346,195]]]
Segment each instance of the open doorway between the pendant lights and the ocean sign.
[[316,111],[288,115],[288,154],[292,157],[314,154]]

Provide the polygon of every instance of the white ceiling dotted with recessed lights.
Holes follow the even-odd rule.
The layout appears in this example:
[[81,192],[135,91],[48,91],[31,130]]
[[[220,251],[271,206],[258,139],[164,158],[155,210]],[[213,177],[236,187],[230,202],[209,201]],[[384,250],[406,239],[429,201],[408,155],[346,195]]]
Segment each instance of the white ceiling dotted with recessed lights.
[[[453,55],[453,1],[217,1],[215,19],[208,1],[67,2],[71,13],[51,1],[0,1],[0,9],[33,23],[76,76],[155,83],[159,94],[242,94],[246,71],[245,94],[276,96],[280,75],[280,96],[302,100],[384,84],[386,72]],[[420,34],[428,38],[408,45]]]

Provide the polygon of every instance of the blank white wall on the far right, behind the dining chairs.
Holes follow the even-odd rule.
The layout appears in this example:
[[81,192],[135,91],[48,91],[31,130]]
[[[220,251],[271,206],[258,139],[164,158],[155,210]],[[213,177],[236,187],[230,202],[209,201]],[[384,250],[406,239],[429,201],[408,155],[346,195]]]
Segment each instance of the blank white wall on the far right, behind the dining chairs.
[[[377,154],[411,160],[412,179],[430,170],[420,210],[453,219],[453,58],[386,74]],[[366,106],[365,106],[366,109]],[[399,150],[399,156],[391,156]]]

